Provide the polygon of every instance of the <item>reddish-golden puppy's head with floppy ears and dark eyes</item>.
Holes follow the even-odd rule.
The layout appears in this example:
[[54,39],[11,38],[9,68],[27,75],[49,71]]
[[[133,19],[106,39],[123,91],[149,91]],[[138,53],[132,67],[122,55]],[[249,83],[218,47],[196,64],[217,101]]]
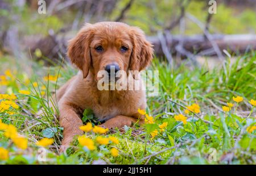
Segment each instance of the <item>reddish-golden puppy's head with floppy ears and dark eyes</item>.
[[89,72],[100,70],[115,72],[141,71],[150,64],[152,45],[137,27],[118,22],[86,23],[69,41],[68,56],[82,70],[84,78]]

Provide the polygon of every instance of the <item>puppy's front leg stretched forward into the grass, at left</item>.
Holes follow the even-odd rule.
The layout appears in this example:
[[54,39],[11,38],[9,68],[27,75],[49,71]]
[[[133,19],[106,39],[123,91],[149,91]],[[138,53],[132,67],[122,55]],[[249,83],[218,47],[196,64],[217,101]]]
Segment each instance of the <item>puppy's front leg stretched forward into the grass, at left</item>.
[[76,135],[82,135],[79,127],[82,126],[82,120],[77,114],[78,110],[69,104],[60,104],[60,126],[64,128],[61,152],[65,150]]

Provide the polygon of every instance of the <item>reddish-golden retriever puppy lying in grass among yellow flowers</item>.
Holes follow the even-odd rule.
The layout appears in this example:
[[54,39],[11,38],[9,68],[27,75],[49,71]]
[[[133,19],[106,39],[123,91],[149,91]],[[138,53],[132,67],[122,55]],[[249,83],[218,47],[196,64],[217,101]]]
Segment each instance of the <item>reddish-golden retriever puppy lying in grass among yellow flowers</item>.
[[[113,68],[114,74],[125,71],[129,77],[129,70],[140,72],[150,64],[153,52],[142,30],[118,22],[86,23],[69,41],[68,56],[80,72],[56,93],[65,148],[74,136],[82,135],[79,127],[86,108],[92,109],[99,121],[105,121],[102,124],[105,128],[131,126],[136,121],[143,123],[144,117],[138,114],[138,108],[146,108],[145,90],[100,90],[98,82],[102,77],[98,77],[98,73],[104,71],[110,75]],[[125,87],[137,79],[143,83],[138,74],[132,75]]]

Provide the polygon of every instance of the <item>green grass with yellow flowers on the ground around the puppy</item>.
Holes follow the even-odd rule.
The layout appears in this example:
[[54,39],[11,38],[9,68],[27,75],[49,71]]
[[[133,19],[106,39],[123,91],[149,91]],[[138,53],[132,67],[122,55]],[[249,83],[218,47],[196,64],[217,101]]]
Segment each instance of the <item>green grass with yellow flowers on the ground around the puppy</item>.
[[[97,144],[96,150],[90,152],[75,140],[74,147],[60,155],[57,148],[63,129],[53,109],[49,108],[48,100],[52,92],[77,71],[68,64],[62,68],[44,68],[32,62],[31,74],[26,74],[15,59],[2,57],[1,60],[13,76],[7,77],[7,86],[1,86],[0,93],[14,93],[20,108],[14,110],[13,115],[0,112],[0,119],[15,125],[19,134],[28,139],[28,149],[21,150],[0,130],[0,147],[10,152],[9,160],[0,160],[1,164],[92,164],[95,161],[106,164],[255,164],[255,131],[249,133],[246,129],[256,124],[255,110],[248,102],[256,98],[256,53],[243,55],[232,65],[227,58],[225,69],[219,66],[213,70],[207,65],[189,66],[187,61],[170,66],[155,58],[149,69],[159,70],[159,95],[147,100],[147,112],[154,116],[155,123],[108,133],[106,136],[117,137],[119,144]],[[45,81],[43,77],[48,74],[60,77],[57,81]],[[33,82],[39,86],[33,86]],[[43,85],[46,90],[42,89]],[[30,95],[19,94],[19,90],[29,90]],[[41,95],[42,91],[45,95]],[[238,106],[232,100],[237,95],[243,97]],[[235,105],[230,112],[223,112],[222,106],[227,102]],[[184,114],[184,106],[193,103],[199,104],[201,112]],[[36,118],[35,113],[42,107],[44,115]],[[174,119],[178,114],[187,116],[187,124]],[[159,129],[158,125],[163,122],[168,122],[166,130],[151,139],[150,133]],[[87,136],[95,140],[99,135],[88,133]],[[47,162],[38,161],[36,156],[39,147],[35,143],[43,137],[55,140],[46,148]],[[119,150],[118,157],[110,154],[111,148]],[[209,156],[216,160],[210,162]]]

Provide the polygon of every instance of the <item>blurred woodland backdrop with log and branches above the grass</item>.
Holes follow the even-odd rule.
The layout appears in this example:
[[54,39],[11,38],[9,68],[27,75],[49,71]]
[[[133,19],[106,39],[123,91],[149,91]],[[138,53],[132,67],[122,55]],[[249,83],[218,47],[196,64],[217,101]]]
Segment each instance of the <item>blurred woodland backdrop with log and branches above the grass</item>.
[[31,61],[60,63],[79,28],[101,21],[141,27],[155,56],[168,62],[199,65],[208,58],[211,66],[228,53],[255,50],[255,0],[215,2],[216,14],[210,14],[214,4],[205,0],[1,0],[0,59],[25,68]]

